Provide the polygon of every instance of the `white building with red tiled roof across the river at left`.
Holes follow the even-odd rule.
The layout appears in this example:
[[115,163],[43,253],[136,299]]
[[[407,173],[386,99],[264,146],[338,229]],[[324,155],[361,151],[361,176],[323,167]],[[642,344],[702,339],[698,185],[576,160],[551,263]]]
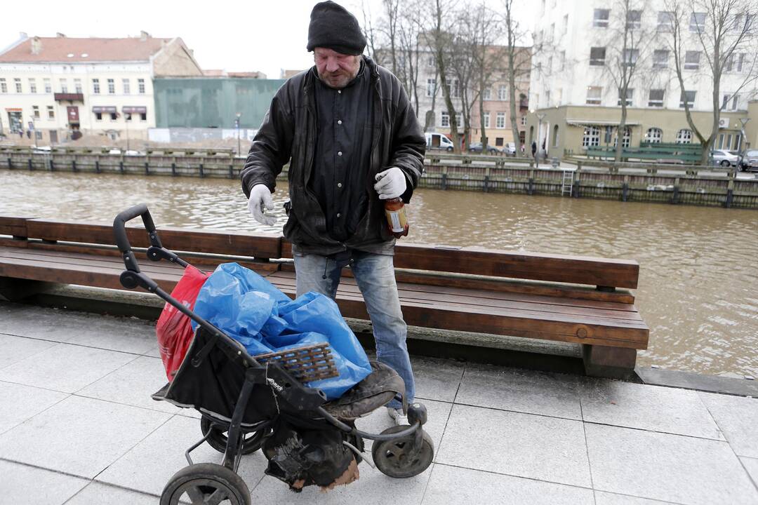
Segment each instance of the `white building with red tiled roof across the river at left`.
[[82,134],[146,139],[155,76],[201,76],[182,39],[21,38],[0,53],[0,132],[42,142]]

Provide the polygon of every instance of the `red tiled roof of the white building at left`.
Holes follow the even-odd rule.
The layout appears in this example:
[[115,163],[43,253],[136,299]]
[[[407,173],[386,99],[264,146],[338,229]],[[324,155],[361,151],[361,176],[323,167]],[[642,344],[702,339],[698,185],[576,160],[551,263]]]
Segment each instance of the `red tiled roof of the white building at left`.
[[161,50],[163,42],[171,42],[171,39],[39,37],[41,48],[37,55],[32,54],[32,42],[33,38],[29,38],[5,51],[0,55],[0,63],[148,61],[151,55]]

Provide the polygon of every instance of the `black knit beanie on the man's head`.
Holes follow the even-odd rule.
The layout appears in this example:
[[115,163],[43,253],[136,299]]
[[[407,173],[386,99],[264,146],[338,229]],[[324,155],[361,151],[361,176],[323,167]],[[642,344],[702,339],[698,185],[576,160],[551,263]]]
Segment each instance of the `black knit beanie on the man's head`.
[[366,47],[361,26],[342,5],[320,2],[311,11],[308,50],[329,48],[343,55],[360,55]]

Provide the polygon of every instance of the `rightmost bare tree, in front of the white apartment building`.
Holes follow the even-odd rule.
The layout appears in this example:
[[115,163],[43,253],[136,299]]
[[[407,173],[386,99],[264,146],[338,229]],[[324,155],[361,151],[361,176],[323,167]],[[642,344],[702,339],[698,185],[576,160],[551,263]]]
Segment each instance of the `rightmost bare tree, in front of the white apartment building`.
[[[719,133],[722,104],[722,79],[730,76],[729,96],[738,95],[758,79],[756,73],[756,2],[754,0],[666,0],[669,12],[669,46],[674,55],[676,77],[688,125],[697,136],[703,152],[700,164],[707,164],[713,142]],[[692,49],[699,49],[693,51]],[[702,65],[701,60],[706,64]],[[712,87],[713,123],[709,131],[695,124],[685,80],[688,70],[699,70]],[[731,72],[735,72],[731,75]],[[744,139],[743,139],[744,142]]]

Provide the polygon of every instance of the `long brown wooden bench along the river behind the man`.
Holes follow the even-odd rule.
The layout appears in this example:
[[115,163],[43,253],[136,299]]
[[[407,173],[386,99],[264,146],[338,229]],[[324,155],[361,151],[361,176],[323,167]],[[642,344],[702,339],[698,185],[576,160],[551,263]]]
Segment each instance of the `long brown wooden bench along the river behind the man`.
[[[127,230],[135,250],[149,246],[143,228]],[[280,236],[159,224],[158,234],[196,267],[237,261],[295,293],[291,247]],[[113,244],[106,224],[0,217],[0,296],[23,297],[39,281],[121,289],[124,263]],[[143,254],[139,263],[166,290],[182,273]],[[395,267],[410,326],[581,344],[591,375],[628,373],[647,348],[647,325],[627,291],[637,287],[635,261],[399,244]],[[337,304],[345,317],[368,319],[349,269]]]

